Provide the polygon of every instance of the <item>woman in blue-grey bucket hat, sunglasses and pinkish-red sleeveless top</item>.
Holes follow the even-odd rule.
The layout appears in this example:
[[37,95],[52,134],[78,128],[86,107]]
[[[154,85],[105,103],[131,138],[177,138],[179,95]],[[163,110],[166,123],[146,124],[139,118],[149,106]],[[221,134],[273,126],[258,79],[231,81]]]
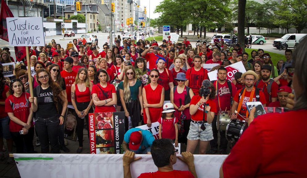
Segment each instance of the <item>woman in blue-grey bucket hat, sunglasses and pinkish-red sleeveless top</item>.
[[[184,114],[186,118],[183,122],[180,122],[180,125],[184,128],[184,133],[181,133],[180,142],[187,144],[187,136],[189,133],[191,114],[190,114],[190,101],[194,96],[192,90],[189,87],[185,86],[185,73],[179,72],[175,78],[178,85],[174,88],[171,88],[171,103],[174,105],[176,112],[174,113],[175,117],[180,120],[181,114]],[[187,95],[188,94],[188,95]]]

